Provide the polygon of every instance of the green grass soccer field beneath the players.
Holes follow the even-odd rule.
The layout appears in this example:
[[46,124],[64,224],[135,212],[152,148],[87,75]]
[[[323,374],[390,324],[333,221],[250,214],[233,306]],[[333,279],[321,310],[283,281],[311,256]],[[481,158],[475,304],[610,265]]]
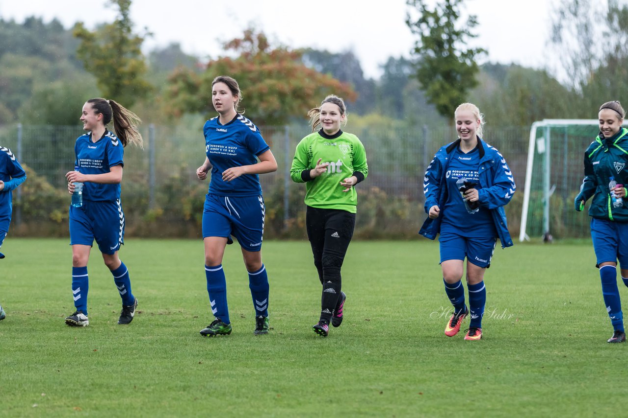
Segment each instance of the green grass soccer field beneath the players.
[[[92,253],[87,328],[63,322],[67,244],[3,246],[0,416],[577,417],[615,415],[628,395],[628,345],[606,343],[590,244],[495,250],[479,342],[443,335],[438,244],[425,239],[351,244],[345,320],[328,338],[311,330],[320,283],[308,243],[264,243],[266,336],[252,335],[246,271],[237,244],[227,248],[234,331],[216,338],[198,334],[212,319],[200,240],[127,239],[121,258],[139,300],[129,326],[116,324],[119,295]],[[621,282],[620,292],[628,300]]]

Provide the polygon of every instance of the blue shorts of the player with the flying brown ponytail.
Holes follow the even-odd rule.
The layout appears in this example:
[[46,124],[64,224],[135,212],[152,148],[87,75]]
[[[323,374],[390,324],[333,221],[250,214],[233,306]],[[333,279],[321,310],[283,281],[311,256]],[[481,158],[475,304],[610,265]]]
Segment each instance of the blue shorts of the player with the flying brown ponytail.
[[70,245],[93,246],[103,254],[114,254],[124,244],[124,212],[117,201],[83,201],[82,207],[70,206]]

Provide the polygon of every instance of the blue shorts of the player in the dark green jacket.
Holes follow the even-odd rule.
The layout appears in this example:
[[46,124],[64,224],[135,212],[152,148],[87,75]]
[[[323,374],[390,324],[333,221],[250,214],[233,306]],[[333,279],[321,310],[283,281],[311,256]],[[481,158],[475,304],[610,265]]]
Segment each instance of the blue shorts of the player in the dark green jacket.
[[628,223],[591,218],[591,238],[597,266],[607,261],[628,268]]

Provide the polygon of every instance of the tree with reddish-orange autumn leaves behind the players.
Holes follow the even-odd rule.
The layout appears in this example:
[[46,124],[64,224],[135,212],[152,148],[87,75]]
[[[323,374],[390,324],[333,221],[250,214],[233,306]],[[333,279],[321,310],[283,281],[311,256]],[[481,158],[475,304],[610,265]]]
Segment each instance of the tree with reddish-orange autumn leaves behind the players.
[[241,106],[258,125],[283,125],[291,117],[305,116],[328,94],[354,101],[349,85],[308,68],[301,52],[273,47],[262,32],[246,29],[242,38],[224,44],[235,58],[209,61],[200,75],[180,67],[170,76],[168,97],[175,117],[183,113],[214,115],[212,80],[219,75],[235,78],[242,88]]

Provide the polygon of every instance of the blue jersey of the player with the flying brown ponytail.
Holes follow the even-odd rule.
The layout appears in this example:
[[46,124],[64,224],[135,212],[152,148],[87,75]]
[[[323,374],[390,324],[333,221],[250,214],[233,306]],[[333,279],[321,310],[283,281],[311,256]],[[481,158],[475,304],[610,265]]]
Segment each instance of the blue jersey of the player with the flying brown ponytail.
[[[105,174],[115,165],[124,165],[124,147],[120,140],[109,131],[102,138],[92,142],[92,133],[77,138],[74,145],[78,170],[82,174]],[[116,201],[120,199],[120,184],[100,184],[85,182],[83,199],[87,201]]]

